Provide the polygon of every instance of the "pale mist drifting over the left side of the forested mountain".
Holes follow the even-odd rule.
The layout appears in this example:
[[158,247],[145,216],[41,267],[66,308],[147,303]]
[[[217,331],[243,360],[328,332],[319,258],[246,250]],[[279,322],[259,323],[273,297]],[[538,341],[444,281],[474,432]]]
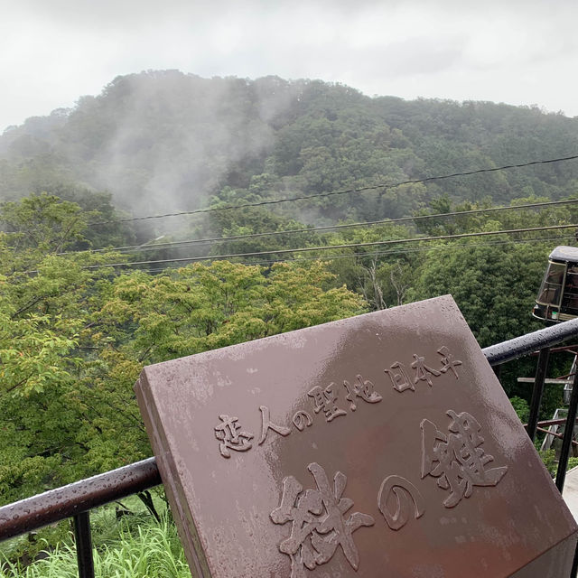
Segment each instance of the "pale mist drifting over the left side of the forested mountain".
[[0,154],[13,163],[35,157],[30,180],[21,182],[32,190],[51,180],[77,182],[111,191],[135,216],[195,210],[226,182],[246,187],[250,174],[263,172],[274,145],[271,123],[300,86],[177,70],[118,77],[96,98],[6,131]]

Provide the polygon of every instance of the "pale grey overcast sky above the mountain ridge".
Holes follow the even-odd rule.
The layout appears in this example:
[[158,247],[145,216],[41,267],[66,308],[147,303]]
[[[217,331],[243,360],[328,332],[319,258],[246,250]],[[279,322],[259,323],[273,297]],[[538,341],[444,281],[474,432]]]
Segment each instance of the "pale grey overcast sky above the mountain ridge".
[[0,132],[148,69],[578,116],[576,0],[0,0],[0,11]]

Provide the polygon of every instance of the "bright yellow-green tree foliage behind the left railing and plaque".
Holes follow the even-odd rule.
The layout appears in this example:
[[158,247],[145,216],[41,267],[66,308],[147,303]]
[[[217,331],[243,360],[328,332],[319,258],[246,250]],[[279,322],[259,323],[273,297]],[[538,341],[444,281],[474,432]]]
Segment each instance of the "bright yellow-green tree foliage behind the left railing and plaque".
[[117,276],[107,266],[117,255],[56,254],[67,231],[83,240],[81,227],[67,228],[86,223],[78,205],[41,196],[32,209],[8,205],[14,230],[0,235],[4,503],[150,455],[133,392],[144,364],[365,310],[309,261]]

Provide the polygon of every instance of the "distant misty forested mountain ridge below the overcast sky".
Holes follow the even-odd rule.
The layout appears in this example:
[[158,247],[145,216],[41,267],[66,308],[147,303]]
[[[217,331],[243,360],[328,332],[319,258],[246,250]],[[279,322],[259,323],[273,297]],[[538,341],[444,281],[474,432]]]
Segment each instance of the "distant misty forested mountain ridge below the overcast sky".
[[[0,199],[63,184],[110,191],[135,215],[394,184],[578,151],[578,118],[489,102],[369,98],[319,80],[114,79],[72,109],[0,137]],[[508,203],[573,194],[578,163],[285,204],[308,223],[409,215],[444,193]],[[166,231],[162,231],[166,232]]]

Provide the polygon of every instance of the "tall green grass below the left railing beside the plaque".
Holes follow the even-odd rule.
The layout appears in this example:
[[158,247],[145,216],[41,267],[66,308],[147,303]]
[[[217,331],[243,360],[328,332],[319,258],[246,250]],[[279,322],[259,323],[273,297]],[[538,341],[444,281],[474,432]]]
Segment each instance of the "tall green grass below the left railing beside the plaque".
[[[120,530],[119,537],[93,550],[96,578],[191,578],[172,522],[150,519]],[[76,551],[59,545],[25,568],[3,561],[0,578],[77,578]]]

